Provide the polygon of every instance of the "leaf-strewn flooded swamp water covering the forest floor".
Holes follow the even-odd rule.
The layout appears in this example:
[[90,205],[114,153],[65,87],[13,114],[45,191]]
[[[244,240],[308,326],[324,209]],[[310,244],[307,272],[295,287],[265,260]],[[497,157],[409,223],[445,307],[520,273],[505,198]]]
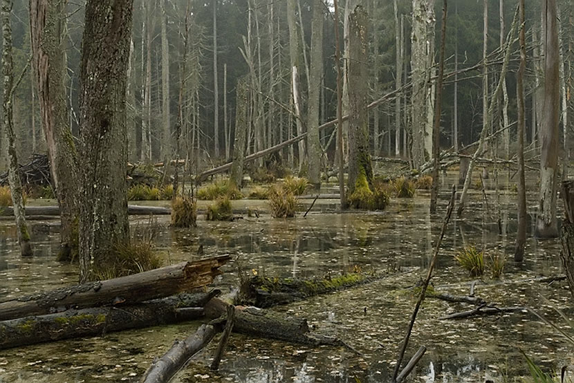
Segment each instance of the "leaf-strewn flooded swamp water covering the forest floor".
[[[297,346],[268,339],[232,335],[219,373],[209,371],[214,344],[181,372],[176,382],[388,382],[398,345],[404,336],[416,296],[409,287],[426,274],[434,241],[442,226],[449,197],[445,180],[439,214],[428,214],[428,194],[394,199],[382,213],[337,213],[336,200],[317,200],[303,218],[276,220],[266,204],[234,202],[239,211],[257,209],[260,218],[233,223],[201,219],[194,230],[172,230],[169,217],[151,224],[166,262],[232,254],[234,262],[216,284],[225,292],[237,285],[239,270],[278,277],[324,277],[345,270],[388,270],[389,277],[358,288],[275,308],[308,319],[317,330],[337,335],[351,348]],[[534,187],[532,187],[534,189]],[[476,283],[476,295],[504,306],[530,306],[571,334],[554,308],[574,317],[564,282],[543,283],[540,277],[563,274],[557,241],[529,239],[526,262],[510,261],[516,230],[515,194],[501,192],[501,222],[508,235],[497,235],[494,191],[488,211],[474,191],[464,221],[450,223],[433,279],[434,289],[467,295],[473,281],[453,261],[463,244],[506,254],[503,279],[486,275]],[[529,195],[529,227],[535,221],[535,194]],[[303,201],[302,210],[310,200]],[[201,208],[201,205],[200,205]],[[36,255],[18,256],[15,232],[0,223],[0,300],[75,283],[73,265],[57,263],[55,221],[33,223]],[[133,221],[132,232],[149,232],[147,220]],[[425,345],[427,353],[410,382],[522,382],[528,367],[520,350],[547,371],[574,364],[574,348],[555,330],[528,312],[459,321],[439,319],[467,305],[427,299],[419,312],[407,358]],[[167,351],[175,339],[194,332],[199,322],[163,326],[104,337],[0,351],[0,382],[137,382],[151,360]]]

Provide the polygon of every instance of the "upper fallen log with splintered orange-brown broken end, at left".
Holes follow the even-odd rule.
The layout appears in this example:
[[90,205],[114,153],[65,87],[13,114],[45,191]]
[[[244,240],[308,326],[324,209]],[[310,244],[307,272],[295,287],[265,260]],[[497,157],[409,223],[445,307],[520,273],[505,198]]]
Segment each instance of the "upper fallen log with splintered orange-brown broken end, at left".
[[221,274],[219,268],[229,260],[228,255],[216,256],[127,277],[84,283],[1,301],[0,320],[50,314],[70,308],[120,306],[122,303],[139,303],[169,297],[179,292],[189,292],[212,283],[214,277]]

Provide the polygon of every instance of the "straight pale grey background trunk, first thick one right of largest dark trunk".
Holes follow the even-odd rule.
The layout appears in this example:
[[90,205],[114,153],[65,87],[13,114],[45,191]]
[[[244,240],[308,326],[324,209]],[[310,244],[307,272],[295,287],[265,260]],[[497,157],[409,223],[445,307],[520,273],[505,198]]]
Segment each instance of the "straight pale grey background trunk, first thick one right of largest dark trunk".
[[172,128],[169,111],[169,41],[167,41],[167,13],[165,3],[160,0],[161,17],[161,112],[163,124],[163,140],[161,142],[162,158],[172,155]]

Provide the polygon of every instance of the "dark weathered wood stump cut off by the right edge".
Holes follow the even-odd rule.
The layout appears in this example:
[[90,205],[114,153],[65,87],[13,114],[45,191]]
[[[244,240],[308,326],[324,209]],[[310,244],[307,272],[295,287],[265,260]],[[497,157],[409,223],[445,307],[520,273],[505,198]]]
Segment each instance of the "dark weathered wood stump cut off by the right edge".
[[560,258],[564,264],[568,286],[574,298],[574,181],[562,183],[562,200],[564,200],[564,213],[566,218],[562,223],[562,252]]

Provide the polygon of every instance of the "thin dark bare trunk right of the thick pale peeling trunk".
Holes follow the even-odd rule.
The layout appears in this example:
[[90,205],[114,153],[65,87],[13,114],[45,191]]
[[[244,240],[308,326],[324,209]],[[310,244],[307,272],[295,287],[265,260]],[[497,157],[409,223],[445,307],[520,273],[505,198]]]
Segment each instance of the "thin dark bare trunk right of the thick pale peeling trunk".
[[443,0],[443,25],[441,28],[441,55],[438,61],[438,81],[436,84],[436,105],[434,109],[434,127],[432,130],[432,191],[430,212],[436,212],[436,199],[438,198],[438,167],[441,165],[441,111],[443,102],[443,77],[445,73],[445,39],[447,33],[447,0]]

